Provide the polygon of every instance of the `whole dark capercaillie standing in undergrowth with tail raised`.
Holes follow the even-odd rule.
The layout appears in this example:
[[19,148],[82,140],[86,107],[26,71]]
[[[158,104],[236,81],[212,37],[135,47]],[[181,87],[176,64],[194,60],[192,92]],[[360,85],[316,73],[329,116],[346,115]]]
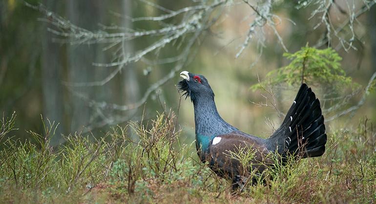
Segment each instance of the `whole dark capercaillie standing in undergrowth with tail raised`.
[[[320,102],[306,84],[301,85],[281,127],[268,139],[262,139],[244,133],[222,119],[215,106],[214,93],[203,75],[183,71],[180,76],[183,80],[178,88],[186,99],[190,97],[194,106],[198,156],[202,162],[209,162],[210,168],[219,176],[231,179],[233,189],[248,179],[244,172],[261,175],[275,162],[271,155],[279,155],[283,161],[289,155],[307,158],[325,152],[327,136]],[[231,152],[239,151],[254,152],[246,167],[231,156]]]

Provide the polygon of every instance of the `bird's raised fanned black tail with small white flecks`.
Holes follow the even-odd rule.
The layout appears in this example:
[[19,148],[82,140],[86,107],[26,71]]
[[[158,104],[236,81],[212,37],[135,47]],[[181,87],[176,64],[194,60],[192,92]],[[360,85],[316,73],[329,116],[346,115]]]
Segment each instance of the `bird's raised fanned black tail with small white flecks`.
[[303,83],[281,127],[266,140],[266,144],[270,150],[283,156],[291,154],[307,158],[321,156],[325,152],[326,140],[320,102],[311,88]]

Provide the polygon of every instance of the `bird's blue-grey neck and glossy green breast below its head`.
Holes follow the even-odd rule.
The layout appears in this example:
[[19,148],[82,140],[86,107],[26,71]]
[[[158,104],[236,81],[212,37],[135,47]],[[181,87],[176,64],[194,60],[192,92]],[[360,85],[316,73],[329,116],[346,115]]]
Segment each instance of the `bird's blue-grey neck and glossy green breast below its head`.
[[219,115],[214,97],[196,97],[193,106],[197,148],[201,146],[205,151],[209,147],[209,141],[216,135],[237,130]]

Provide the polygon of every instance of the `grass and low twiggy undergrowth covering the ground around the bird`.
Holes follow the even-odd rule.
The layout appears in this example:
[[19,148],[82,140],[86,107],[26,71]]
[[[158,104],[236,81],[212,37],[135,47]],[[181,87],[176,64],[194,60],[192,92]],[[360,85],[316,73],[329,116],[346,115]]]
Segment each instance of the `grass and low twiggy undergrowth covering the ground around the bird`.
[[[9,137],[15,115],[0,122],[2,203],[375,203],[376,136],[369,120],[328,132],[324,156],[290,161],[266,173],[267,185],[232,193],[230,183],[181,144],[173,112],[114,127],[102,137],[65,136],[51,148],[56,125]],[[97,138],[97,139],[96,139]]]

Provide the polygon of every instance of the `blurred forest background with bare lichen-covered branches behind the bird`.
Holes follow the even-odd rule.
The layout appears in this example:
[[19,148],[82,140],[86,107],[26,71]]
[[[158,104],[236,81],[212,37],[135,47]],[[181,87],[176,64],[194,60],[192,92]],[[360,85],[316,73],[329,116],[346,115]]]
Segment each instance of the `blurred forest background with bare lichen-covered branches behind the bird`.
[[[360,124],[359,131],[375,138],[375,3],[2,0],[0,112],[17,116],[1,142],[12,137],[39,144],[55,121],[48,146],[58,148],[72,142],[68,135],[100,139],[117,125],[171,109],[183,130],[178,140],[191,144],[193,106],[176,87],[183,70],[205,75],[222,117],[245,132],[271,135],[304,81],[320,99],[333,138]],[[306,60],[309,72],[301,77]],[[1,149],[9,148],[4,144]],[[332,164],[339,161],[334,147],[328,153]],[[363,154],[374,158],[372,150]]]

